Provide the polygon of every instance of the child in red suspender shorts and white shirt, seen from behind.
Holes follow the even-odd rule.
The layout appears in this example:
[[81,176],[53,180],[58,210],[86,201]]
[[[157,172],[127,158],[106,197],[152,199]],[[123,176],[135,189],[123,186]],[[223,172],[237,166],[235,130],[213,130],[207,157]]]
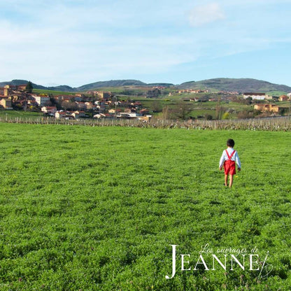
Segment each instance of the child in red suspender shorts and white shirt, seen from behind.
[[222,170],[222,164],[225,168],[225,186],[227,186],[227,178],[229,175],[229,187],[232,187],[234,175],[236,174],[236,164],[238,171],[241,171],[241,161],[236,150],[234,150],[234,140],[227,140],[227,149],[222,152],[220,157],[219,169]]

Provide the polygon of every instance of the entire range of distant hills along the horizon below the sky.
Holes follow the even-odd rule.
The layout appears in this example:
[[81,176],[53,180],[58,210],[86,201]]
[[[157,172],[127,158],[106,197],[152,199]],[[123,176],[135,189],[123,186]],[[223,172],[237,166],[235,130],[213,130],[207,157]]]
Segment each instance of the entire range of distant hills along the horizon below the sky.
[[[12,80],[8,82],[0,82],[0,87],[4,85],[22,85],[27,84],[27,80]],[[45,87],[32,83],[35,89],[55,90],[62,92],[86,92],[88,90],[98,90],[101,87],[123,87],[123,86],[164,86],[171,87],[171,83],[143,83],[140,80],[108,80],[82,85],[80,87],[70,87],[60,85],[56,87]],[[237,92],[291,92],[291,87],[286,85],[277,85],[266,82],[264,80],[255,80],[250,78],[232,79],[232,78],[215,78],[201,81],[190,81],[176,85],[179,89],[208,89],[215,91],[237,91]]]

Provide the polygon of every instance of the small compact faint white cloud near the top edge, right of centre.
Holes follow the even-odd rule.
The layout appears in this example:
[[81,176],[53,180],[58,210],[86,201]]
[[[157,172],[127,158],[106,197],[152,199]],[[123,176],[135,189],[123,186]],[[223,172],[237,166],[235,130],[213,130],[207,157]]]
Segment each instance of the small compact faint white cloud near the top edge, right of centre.
[[224,18],[225,13],[218,3],[196,6],[189,13],[189,21],[193,27],[199,27]]

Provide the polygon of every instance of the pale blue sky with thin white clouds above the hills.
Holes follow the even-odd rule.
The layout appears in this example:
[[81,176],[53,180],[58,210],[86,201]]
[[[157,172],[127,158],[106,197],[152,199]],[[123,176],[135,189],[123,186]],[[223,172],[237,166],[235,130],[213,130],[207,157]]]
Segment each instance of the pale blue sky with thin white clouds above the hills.
[[291,0],[0,0],[0,81],[291,86]]

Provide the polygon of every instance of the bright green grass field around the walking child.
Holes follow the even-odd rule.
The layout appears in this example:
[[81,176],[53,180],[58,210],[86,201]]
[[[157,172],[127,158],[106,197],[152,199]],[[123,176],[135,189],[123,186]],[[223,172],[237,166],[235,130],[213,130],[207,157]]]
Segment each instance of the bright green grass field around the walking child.
[[[291,289],[290,132],[0,128],[0,290]],[[218,171],[229,138],[232,189]],[[197,265],[207,243],[220,260],[244,248],[245,270],[213,270],[211,253]],[[251,250],[269,251],[259,271]]]

